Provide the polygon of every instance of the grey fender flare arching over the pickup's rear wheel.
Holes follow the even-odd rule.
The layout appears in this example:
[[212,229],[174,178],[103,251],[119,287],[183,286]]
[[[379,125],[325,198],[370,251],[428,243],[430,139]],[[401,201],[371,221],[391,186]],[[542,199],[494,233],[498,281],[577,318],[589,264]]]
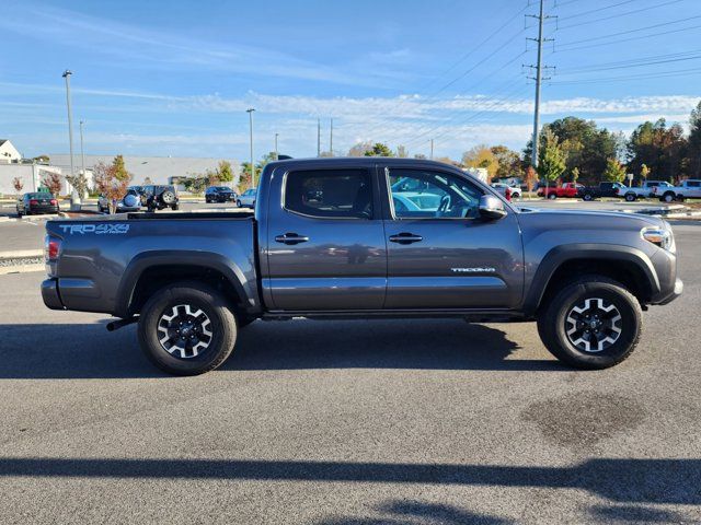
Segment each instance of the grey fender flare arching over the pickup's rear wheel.
[[231,283],[244,307],[257,306],[256,299],[251,298],[245,291],[243,272],[227,257],[212,252],[159,249],[138,254],[127,265],[117,288],[116,316],[124,318],[133,315],[130,305],[136,284],[146,270],[157,266],[195,266],[216,270]]

